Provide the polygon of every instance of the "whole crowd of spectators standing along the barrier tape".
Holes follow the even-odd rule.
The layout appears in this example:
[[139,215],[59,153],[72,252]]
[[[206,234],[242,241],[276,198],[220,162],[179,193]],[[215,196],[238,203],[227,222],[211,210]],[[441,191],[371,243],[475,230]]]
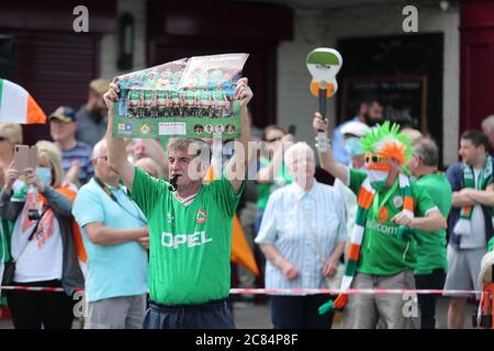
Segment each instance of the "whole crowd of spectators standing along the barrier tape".
[[[206,162],[198,159],[210,139],[113,137],[120,90],[104,79],[79,111],[49,114],[53,141],[36,144],[37,167],[15,165],[22,128],[0,124],[2,285],[63,290],[2,291],[14,327],[71,328],[83,287],[88,329],[235,328],[236,214],[262,272],[238,269],[240,286],[341,287],[269,295],[277,329],[329,329],[336,313],[344,328],[434,329],[437,294],[418,294],[409,316],[401,294],[345,291],[480,290],[494,240],[494,116],[461,135],[461,161],[445,173],[436,141],[388,121],[375,99],[330,135],[316,113],[314,144],[279,125],[257,129],[252,95],[240,79],[240,137]],[[246,157],[249,141],[259,156]],[[214,162],[225,171],[205,182]],[[318,179],[317,163],[334,183]],[[445,296],[448,327],[461,328],[468,298],[480,296]]]

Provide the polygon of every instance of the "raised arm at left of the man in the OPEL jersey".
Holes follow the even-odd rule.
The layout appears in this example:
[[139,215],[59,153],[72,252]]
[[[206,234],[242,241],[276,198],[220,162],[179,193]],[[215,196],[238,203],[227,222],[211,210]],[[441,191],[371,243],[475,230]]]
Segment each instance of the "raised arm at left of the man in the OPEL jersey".
[[134,183],[135,166],[128,162],[125,155],[125,140],[123,138],[114,138],[113,129],[113,103],[119,101],[119,86],[110,83],[110,90],[103,95],[108,106],[108,129],[106,129],[106,148],[108,161],[110,167],[122,178],[125,186],[132,192]]

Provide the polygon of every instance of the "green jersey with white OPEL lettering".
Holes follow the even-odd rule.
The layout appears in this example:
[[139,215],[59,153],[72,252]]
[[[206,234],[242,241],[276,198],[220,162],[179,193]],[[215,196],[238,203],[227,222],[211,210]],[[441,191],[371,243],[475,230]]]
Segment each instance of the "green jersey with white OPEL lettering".
[[202,185],[183,205],[168,182],[136,168],[132,197],[149,224],[149,297],[160,304],[200,304],[228,296],[235,194],[226,179]]

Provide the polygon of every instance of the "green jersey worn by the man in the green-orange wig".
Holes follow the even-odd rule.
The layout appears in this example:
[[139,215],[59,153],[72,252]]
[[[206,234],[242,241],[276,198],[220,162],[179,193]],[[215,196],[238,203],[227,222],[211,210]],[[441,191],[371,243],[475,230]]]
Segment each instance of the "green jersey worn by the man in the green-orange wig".
[[[350,169],[351,191],[358,195],[360,185],[366,180],[367,173]],[[398,180],[396,179],[396,182]],[[394,184],[393,184],[394,185]],[[425,216],[426,212],[436,205],[430,200],[427,191],[416,184],[411,184],[415,197],[414,214],[417,217]],[[385,200],[388,190],[379,193],[379,201]],[[377,201],[378,196],[374,196]],[[373,204],[367,214],[366,231],[360,249],[360,259],[358,262],[358,272],[373,275],[394,275],[405,270],[413,271],[415,268],[416,254],[415,245],[412,241],[405,241],[397,237],[398,226],[391,222],[396,214],[403,210],[403,197],[400,194],[400,186],[394,191],[384,203],[388,215],[378,222],[378,215],[374,215]]]

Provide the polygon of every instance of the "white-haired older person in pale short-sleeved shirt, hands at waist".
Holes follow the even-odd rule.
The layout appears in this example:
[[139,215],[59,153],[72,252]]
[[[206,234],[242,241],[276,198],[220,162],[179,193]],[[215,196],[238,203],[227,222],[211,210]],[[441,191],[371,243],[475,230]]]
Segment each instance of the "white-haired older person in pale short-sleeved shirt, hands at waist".
[[[291,146],[284,162],[294,182],[269,197],[256,242],[268,260],[267,288],[322,288],[336,268],[348,239],[343,197],[314,179],[314,151],[306,144]],[[327,295],[271,295],[277,329],[328,329],[333,315],[317,308]]]

